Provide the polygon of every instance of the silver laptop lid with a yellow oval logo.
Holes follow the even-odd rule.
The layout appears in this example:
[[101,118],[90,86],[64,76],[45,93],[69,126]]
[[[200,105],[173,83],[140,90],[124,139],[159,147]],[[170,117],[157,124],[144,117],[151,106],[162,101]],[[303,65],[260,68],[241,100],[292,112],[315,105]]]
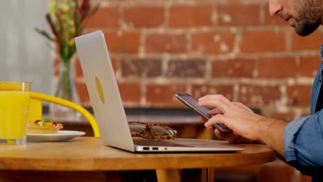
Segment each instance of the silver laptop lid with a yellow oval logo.
[[135,145],[103,32],[76,37],[75,45],[102,141],[134,152]]

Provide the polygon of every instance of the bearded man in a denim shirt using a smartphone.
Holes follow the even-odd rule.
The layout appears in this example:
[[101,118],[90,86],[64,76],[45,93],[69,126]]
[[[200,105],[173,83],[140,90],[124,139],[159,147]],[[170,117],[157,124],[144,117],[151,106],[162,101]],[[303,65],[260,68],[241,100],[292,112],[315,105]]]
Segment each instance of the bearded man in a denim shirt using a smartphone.
[[[269,0],[271,16],[280,16],[306,36],[323,22],[322,0]],[[320,51],[323,60],[323,45]],[[311,115],[290,123],[262,117],[250,112],[242,103],[232,103],[222,95],[207,95],[199,99],[200,106],[213,107],[216,114],[205,125],[219,138],[232,143],[259,142],[275,149],[286,162],[303,174],[313,176],[313,181],[323,181],[323,63],[315,77],[311,93]],[[213,128],[213,123],[224,123],[233,132],[222,133]]]

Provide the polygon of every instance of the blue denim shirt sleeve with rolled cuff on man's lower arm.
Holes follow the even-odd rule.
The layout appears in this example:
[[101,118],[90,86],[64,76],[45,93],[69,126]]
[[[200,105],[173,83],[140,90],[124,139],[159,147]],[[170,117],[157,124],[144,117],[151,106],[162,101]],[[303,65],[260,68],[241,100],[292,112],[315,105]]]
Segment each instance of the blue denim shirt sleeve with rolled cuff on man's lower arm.
[[303,174],[323,166],[323,111],[295,119],[284,131],[286,162]]

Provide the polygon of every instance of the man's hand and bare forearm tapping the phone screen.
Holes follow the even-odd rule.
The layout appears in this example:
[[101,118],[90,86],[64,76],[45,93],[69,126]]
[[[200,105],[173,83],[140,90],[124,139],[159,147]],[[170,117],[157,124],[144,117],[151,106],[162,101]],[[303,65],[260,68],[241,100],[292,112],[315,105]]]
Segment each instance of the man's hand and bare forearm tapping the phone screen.
[[[257,141],[265,143],[284,155],[283,136],[287,123],[262,117],[251,112],[242,103],[233,103],[223,95],[206,95],[199,99],[199,106],[214,108],[209,114],[216,114],[204,124],[208,130],[232,143],[248,143]],[[233,130],[222,133],[213,128],[214,123],[223,123]]]

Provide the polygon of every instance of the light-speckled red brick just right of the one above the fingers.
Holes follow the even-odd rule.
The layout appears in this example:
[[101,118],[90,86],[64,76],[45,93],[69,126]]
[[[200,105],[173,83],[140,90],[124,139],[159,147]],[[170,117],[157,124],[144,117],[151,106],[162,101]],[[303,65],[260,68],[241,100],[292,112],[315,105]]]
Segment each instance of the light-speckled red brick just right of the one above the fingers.
[[261,107],[280,100],[280,87],[277,85],[239,85],[238,101],[249,107]]

